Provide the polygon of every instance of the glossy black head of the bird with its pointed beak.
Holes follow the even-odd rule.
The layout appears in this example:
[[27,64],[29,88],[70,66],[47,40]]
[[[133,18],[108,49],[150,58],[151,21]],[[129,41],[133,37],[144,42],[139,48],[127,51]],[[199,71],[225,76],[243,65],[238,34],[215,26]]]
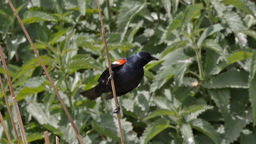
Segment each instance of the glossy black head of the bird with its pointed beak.
[[135,64],[139,68],[143,68],[146,64],[148,64],[148,62],[152,60],[159,60],[158,58],[152,56],[149,52],[144,51],[133,54],[132,56],[130,56],[130,59],[133,61],[133,64]]

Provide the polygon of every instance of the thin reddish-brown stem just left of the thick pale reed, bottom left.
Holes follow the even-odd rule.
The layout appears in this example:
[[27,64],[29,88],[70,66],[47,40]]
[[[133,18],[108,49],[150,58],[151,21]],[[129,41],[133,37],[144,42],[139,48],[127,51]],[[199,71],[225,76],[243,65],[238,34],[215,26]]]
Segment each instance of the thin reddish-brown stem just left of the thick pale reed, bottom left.
[[[0,49],[2,50],[1,45],[0,45]],[[11,122],[12,122],[12,127],[13,127],[13,129],[14,129],[14,133],[15,133],[17,142],[18,142],[18,144],[20,144],[20,138],[19,138],[19,136],[18,136],[18,132],[17,132],[17,129],[16,129],[14,120],[13,120],[12,111],[11,111],[11,108],[10,108],[10,105],[9,105],[9,102],[8,102],[8,98],[7,98],[6,93],[5,93],[5,90],[4,90],[4,83],[3,83],[3,81],[2,81],[1,75],[0,75],[0,84],[1,84],[2,92],[3,92],[3,94],[4,94],[4,100],[5,100],[5,103],[6,103],[6,106],[7,106],[7,110],[8,110],[8,112],[9,112],[10,119],[11,119]]]

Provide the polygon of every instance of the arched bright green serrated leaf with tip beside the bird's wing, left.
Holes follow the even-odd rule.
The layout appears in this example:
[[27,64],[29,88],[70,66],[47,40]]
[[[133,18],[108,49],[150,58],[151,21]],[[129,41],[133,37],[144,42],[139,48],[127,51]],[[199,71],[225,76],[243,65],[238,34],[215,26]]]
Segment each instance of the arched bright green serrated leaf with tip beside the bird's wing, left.
[[100,66],[94,58],[92,58],[89,55],[86,54],[76,54],[72,58],[68,60],[67,70],[69,71],[69,74],[72,74],[80,69],[97,69],[102,70],[102,67]]

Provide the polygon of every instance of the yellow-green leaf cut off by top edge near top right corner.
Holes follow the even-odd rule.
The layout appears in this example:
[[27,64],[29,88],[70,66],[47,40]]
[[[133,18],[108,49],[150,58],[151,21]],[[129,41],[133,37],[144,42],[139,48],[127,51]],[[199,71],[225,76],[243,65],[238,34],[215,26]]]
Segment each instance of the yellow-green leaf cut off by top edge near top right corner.
[[254,15],[252,11],[242,2],[241,0],[223,0],[221,3],[227,4],[227,5],[233,5],[238,7],[240,10],[243,10],[244,12]]

